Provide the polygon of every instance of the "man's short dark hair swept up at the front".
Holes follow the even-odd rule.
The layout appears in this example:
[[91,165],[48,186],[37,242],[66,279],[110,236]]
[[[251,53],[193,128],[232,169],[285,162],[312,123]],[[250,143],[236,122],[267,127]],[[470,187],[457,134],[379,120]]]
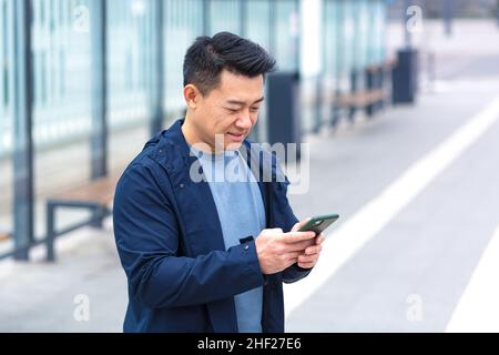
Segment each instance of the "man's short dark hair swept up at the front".
[[248,78],[275,70],[275,60],[258,44],[230,32],[198,37],[184,59],[184,87],[194,84],[203,95],[220,84],[226,69]]

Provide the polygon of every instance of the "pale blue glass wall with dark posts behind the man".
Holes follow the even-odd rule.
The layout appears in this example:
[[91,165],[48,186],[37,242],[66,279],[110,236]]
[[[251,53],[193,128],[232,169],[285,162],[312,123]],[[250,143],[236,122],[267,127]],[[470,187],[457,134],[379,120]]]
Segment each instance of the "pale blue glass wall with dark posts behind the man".
[[[12,161],[17,142],[12,61],[17,1],[24,0],[0,0],[0,232],[14,230]],[[91,175],[95,95],[90,9],[95,0],[26,1],[32,12],[31,139],[38,221],[34,234],[43,237],[43,201],[53,192],[53,185],[64,190],[90,180]],[[98,1],[105,3],[105,124],[111,172],[120,171],[151,135],[157,82],[162,85],[163,126],[182,115],[183,55],[196,37],[231,31],[267,49],[276,58],[278,70],[301,70],[301,41],[306,40],[301,34],[301,10],[306,1]],[[322,0],[320,4],[323,40],[317,55],[323,64],[317,79],[323,81],[325,91],[347,91],[352,71],[385,60],[387,6],[381,0]],[[160,26],[157,19],[162,21]],[[161,57],[154,57],[157,50],[162,51]],[[156,58],[162,58],[160,81]],[[265,140],[267,119],[263,110],[255,138]],[[303,126],[310,131],[313,124],[304,122]],[[59,162],[61,150],[78,159]],[[61,164],[64,174],[58,171]]]

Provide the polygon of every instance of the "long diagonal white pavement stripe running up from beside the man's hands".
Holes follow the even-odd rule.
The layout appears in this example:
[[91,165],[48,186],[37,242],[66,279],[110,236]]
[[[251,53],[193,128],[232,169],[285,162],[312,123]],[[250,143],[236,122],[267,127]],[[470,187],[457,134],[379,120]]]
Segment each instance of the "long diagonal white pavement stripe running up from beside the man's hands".
[[334,237],[329,241],[326,237],[319,262],[310,275],[298,283],[284,286],[286,315],[318,290],[498,118],[499,95],[342,224],[338,231],[333,233]]

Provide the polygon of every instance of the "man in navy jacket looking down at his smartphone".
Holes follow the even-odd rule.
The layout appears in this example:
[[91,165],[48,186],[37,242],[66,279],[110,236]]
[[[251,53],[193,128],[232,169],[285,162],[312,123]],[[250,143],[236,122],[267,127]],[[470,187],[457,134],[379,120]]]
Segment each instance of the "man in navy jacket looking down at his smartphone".
[[[297,232],[274,155],[240,153],[274,65],[259,45],[227,32],[187,50],[185,119],[147,142],[116,187],[125,332],[284,332],[282,283],[310,272],[324,236]],[[193,174],[220,175],[227,162],[246,181]]]

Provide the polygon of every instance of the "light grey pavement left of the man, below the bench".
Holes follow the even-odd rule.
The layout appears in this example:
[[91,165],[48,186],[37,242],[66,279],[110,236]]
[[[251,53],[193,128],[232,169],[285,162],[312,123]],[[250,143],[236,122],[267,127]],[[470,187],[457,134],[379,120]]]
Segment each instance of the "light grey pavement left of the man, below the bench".
[[[83,229],[60,239],[58,252],[53,265],[43,261],[41,247],[29,264],[0,263],[0,332],[121,332],[126,278],[110,221],[103,231]],[[88,322],[74,317],[79,295],[88,296]]]

